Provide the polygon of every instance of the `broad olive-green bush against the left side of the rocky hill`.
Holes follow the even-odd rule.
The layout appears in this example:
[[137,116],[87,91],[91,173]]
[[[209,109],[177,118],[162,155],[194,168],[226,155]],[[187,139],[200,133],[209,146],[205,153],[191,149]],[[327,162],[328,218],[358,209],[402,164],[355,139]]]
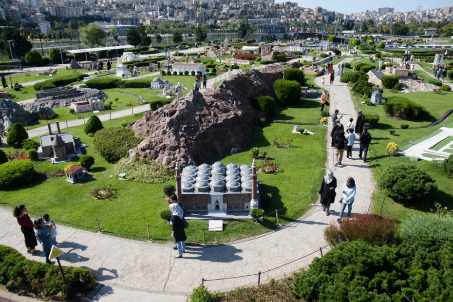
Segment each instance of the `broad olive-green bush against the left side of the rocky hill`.
[[[130,128],[113,127],[95,132],[93,144],[94,149],[106,161],[114,163],[120,158],[127,156],[128,151],[136,147],[141,140],[142,138],[135,136],[135,132]],[[127,174],[129,177],[129,173]]]

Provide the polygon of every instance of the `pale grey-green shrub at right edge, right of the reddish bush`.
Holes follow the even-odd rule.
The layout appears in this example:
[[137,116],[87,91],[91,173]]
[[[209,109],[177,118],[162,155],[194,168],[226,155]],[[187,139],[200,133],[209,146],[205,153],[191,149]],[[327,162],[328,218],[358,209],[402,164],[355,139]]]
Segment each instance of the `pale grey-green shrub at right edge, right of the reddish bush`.
[[401,239],[420,245],[453,245],[453,218],[434,214],[412,216],[402,224]]

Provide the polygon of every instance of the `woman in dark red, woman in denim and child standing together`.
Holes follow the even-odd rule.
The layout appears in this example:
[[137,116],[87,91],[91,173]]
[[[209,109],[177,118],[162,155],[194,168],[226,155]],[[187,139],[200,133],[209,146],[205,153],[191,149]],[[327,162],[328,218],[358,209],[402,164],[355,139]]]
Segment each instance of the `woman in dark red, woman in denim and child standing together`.
[[17,218],[20,230],[24,235],[27,253],[32,255],[39,253],[36,249],[38,245],[36,239],[38,238],[46,255],[46,263],[53,264],[49,259],[49,255],[52,245],[57,245],[57,226],[55,221],[49,218],[49,214],[44,214],[42,218],[32,222],[25,205],[14,208],[13,215]]

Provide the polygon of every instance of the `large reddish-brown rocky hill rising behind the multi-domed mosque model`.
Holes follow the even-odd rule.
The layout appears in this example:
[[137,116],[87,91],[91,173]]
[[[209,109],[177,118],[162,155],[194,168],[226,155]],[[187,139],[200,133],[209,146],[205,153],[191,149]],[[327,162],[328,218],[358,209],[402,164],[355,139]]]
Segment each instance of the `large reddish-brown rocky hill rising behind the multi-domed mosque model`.
[[[300,66],[292,63],[284,68]],[[244,151],[250,147],[254,121],[265,118],[250,100],[261,95],[275,98],[273,84],[283,77],[284,68],[250,70],[230,77],[214,89],[201,89],[199,93],[191,90],[184,98],[146,113],[130,127],[148,138],[129,151],[128,161],[138,155],[151,157],[167,167],[174,166],[177,160],[184,167],[230,154],[233,148]],[[174,115],[164,117],[164,110],[174,111]]]

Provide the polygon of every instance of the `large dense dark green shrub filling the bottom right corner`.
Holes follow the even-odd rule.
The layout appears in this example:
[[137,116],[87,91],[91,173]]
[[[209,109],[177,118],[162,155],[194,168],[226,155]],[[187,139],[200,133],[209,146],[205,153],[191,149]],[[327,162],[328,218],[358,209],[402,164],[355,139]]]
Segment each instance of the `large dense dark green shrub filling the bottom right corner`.
[[453,274],[452,251],[447,244],[427,248],[343,242],[296,277],[292,295],[307,302],[449,301],[451,278],[445,276]]

